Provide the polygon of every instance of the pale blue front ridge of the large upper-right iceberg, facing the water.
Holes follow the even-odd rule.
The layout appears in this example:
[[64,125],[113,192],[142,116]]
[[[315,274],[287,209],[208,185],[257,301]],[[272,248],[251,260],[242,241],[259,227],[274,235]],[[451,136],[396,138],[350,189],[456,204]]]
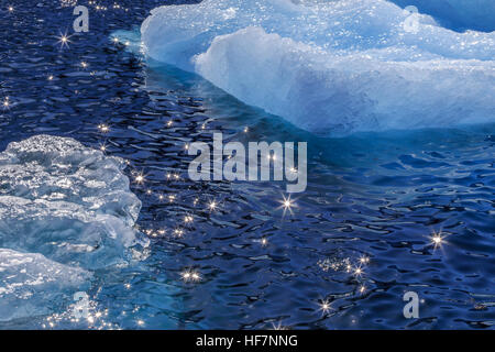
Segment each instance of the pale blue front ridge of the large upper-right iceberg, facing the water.
[[332,55],[250,28],[217,37],[196,64],[242,101],[323,135],[494,121],[493,63],[377,57],[397,54]]

